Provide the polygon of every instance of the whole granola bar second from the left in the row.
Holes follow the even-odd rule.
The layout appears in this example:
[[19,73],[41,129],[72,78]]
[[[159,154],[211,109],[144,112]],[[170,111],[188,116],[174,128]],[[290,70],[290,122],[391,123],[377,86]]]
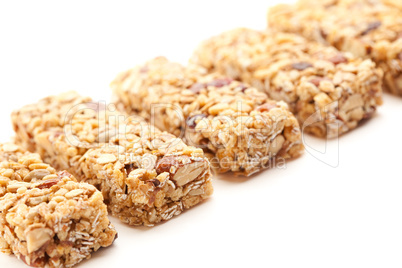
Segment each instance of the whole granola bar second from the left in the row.
[[125,223],[152,226],[213,192],[202,150],[74,92],[28,105],[12,121],[17,142],[96,186]]

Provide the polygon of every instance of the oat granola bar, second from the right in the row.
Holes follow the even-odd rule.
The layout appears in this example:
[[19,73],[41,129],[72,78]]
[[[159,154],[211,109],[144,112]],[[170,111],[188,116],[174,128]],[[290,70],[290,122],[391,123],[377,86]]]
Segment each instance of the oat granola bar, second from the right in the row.
[[382,104],[382,71],[303,37],[236,29],[200,45],[191,62],[285,101],[302,130],[337,137]]

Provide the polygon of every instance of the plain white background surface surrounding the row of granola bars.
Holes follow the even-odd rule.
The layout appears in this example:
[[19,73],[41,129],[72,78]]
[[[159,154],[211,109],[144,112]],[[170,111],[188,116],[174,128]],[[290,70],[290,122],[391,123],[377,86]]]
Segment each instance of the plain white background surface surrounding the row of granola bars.
[[[109,100],[119,71],[159,55],[186,63],[211,35],[264,28],[275,2],[3,1],[1,141],[13,135],[13,109],[71,89]],[[217,176],[210,200],[154,228],[111,218],[118,240],[78,267],[401,267],[401,109],[386,95],[339,143],[306,137],[315,156]],[[0,254],[0,267],[25,265]]]

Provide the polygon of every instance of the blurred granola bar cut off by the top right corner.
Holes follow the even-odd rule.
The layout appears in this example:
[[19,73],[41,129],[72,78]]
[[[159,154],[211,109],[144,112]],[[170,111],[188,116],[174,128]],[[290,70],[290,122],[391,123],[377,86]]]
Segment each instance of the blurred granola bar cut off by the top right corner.
[[269,27],[371,59],[385,89],[402,95],[402,4],[394,0],[300,0],[268,15]]

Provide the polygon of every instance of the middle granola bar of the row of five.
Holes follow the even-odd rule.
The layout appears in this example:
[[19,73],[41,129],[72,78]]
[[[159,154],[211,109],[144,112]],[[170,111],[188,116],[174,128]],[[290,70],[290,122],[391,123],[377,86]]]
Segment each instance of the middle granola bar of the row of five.
[[286,103],[222,75],[159,57],[121,73],[111,86],[118,109],[205,149],[217,172],[251,175],[303,151]]

